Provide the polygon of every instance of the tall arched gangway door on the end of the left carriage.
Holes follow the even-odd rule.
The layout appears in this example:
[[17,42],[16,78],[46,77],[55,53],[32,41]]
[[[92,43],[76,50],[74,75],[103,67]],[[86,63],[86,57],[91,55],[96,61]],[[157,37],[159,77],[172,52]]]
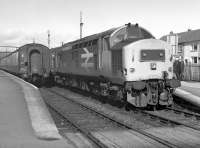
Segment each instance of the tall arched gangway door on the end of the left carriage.
[[30,53],[30,73],[42,74],[42,57],[38,50],[33,50]]

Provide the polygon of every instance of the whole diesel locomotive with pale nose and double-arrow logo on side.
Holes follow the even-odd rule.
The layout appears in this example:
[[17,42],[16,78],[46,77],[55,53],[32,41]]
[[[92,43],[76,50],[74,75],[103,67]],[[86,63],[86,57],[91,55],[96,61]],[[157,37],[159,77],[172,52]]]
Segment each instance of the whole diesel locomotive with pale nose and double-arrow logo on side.
[[94,34],[51,50],[57,83],[129,102],[171,105],[180,86],[173,79],[171,47],[138,24]]

